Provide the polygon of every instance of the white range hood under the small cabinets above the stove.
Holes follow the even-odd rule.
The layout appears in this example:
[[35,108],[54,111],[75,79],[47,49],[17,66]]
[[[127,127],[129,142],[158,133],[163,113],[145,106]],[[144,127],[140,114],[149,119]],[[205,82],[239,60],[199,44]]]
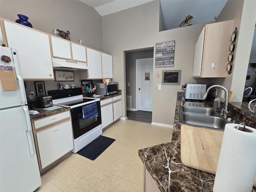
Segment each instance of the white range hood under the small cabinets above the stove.
[[85,70],[88,69],[87,64],[78,61],[71,61],[66,59],[52,58],[52,66],[55,69],[68,69],[68,70]]

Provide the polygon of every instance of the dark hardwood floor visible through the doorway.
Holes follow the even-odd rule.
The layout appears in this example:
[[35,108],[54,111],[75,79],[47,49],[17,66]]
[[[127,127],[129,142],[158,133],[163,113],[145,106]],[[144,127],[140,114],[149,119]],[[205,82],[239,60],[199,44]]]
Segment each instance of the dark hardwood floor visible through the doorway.
[[149,111],[126,111],[129,120],[140,122],[152,122],[152,112]]

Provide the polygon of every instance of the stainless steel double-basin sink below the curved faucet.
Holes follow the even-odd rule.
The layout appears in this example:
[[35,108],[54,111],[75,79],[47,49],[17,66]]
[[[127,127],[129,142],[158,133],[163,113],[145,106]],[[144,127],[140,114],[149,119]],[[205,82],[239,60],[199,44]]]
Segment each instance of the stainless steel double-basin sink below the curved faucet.
[[227,123],[233,121],[226,120],[212,108],[183,106],[180,105],[179,123],[190,126],[197,126],[209,129],[223,130]]

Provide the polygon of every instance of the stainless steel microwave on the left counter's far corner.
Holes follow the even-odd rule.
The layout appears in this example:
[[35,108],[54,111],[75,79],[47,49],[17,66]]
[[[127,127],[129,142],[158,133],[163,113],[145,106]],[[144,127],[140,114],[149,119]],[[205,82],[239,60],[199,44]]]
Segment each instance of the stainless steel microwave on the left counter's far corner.
[[94,83],[96,85],[95,94],[111,95],[118,92],[118,82]]

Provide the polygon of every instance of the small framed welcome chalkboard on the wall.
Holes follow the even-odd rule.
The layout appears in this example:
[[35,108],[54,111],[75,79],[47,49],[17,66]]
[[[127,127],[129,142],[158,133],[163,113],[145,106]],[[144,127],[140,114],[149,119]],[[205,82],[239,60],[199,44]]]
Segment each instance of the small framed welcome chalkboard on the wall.
[[163,71],[162,84],[180,85],[181,70]]

